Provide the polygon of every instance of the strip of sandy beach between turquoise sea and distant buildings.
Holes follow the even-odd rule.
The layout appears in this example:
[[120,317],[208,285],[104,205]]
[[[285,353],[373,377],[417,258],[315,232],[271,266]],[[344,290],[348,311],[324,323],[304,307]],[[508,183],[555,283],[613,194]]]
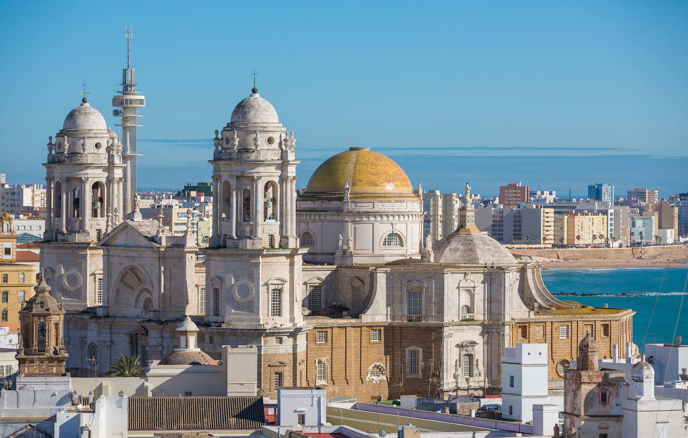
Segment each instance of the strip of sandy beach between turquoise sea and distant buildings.
[[519,259],[537,261],[548,268],[595,267],[686,267],[688,245],[649,246],[645,248],[517,249]]

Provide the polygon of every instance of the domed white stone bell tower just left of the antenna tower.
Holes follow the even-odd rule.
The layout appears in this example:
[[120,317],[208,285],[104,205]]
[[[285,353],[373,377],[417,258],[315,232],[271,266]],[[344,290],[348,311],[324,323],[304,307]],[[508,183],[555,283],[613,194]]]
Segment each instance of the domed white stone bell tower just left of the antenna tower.
[[103,250],[96,243],[125,219],[120,139],[83,98],[50,137],[43,166],[45,281],[67,311],[101,305]]

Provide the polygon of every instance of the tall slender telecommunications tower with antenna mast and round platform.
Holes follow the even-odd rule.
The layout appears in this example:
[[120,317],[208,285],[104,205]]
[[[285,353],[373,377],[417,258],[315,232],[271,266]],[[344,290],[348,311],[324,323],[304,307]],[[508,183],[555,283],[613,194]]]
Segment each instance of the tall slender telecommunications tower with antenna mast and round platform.
[[133,33],[131,27],[125,30],[127,39],[127,68],[122,69],[122,90],[118,91],[121,96],[112,96],[112,106],[116,109],[112,111],[115,117],[121,117],[122,123],[115,126],[122,127],[122,162],[124,168],[124,182],[122,183],[122,210],[125,219],[133,218],[133,195],[136,194],[136,157],[138,153],[136,146],[136,129],[140,126],[138,109],[146,106],[146,99],[140,96],[140,91],[136,91],[136,70],[131,67],[131,39]]

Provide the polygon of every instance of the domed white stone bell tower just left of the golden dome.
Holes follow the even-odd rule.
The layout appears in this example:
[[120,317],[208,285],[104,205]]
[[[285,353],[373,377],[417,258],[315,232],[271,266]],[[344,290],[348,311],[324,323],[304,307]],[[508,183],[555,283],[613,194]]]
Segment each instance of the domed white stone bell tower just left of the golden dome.
[[206,320],[231,327],[302,321],[294,133],[258,90],[213,139],[213,234]]

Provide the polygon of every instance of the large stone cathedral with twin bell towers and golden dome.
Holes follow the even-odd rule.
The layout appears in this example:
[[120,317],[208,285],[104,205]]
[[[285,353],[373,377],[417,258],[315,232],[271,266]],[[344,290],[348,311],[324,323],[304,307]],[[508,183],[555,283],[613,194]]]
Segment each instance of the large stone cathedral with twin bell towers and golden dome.
[[422,188],[385,155],[342,151],[297,194],[294,133],[255,87],[208,140],[212,237],[197,260],[190,215],[180,235],[138,210],[131,106],[144,101],[130,74],[113,99],[131,101],[122,140],[84,98],[47,144],[41,266],[72,375],[105,375],[122,354],[164,362],[186,316],[213,360],[250,351],[268,397],[498,393],[503,347],[546,342],[561,379],[585,333],[603,356],[632,342],[633,311],[558,300],[539,265],[477,230],[470,204],[453,234],[424,242]]

